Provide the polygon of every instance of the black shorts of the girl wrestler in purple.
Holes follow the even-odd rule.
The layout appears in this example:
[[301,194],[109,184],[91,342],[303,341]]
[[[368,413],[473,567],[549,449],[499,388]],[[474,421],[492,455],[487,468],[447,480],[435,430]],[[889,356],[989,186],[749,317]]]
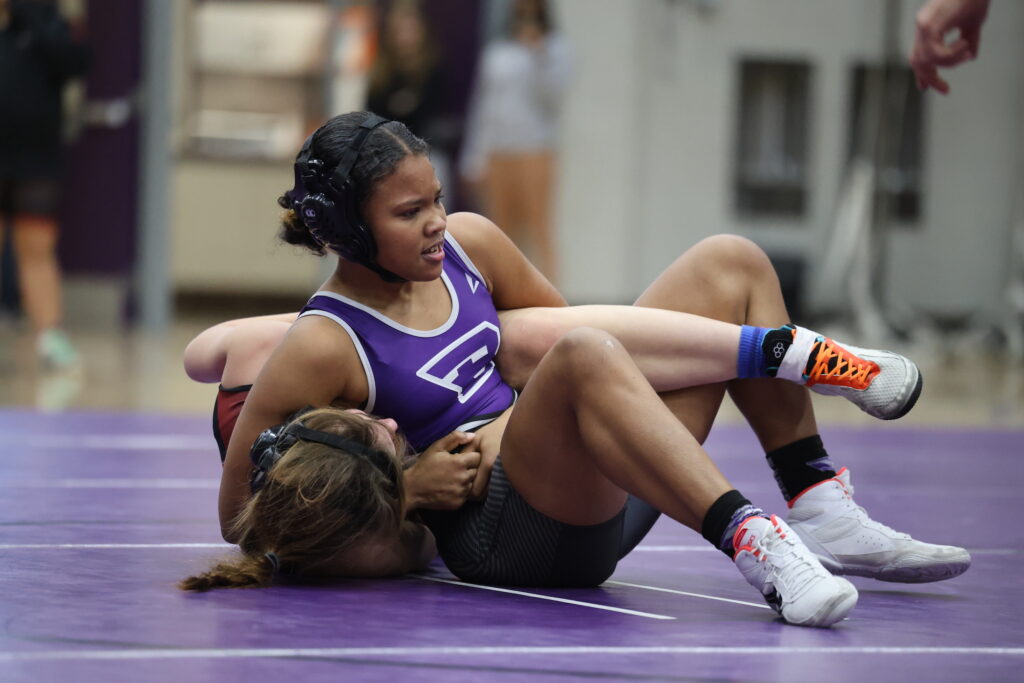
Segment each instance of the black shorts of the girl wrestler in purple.
[[590,587],[615,570],[626,508],[606,522],[565,524],[541,514],[495,461],[481,503],[424,511],[441,559],[463,581],[503,586]]

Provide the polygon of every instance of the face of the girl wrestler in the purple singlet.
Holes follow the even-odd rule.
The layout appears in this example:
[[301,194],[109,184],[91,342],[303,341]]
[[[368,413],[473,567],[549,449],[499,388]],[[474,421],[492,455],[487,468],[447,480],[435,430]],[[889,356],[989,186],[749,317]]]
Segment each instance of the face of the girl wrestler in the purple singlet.
[[410,155],[381,180],[364,208],[377,263],[412,282],[440,278],[447,215],[441,184],[424,155]]

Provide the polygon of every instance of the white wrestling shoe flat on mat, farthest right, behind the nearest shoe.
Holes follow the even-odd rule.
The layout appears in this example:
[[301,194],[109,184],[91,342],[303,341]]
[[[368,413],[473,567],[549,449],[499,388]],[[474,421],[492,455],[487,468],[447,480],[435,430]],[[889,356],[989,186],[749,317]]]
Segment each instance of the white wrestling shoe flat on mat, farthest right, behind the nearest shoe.
[[971,566],[963,548],[914,541],[868,517],[853,502],[845,467],[793,499],[786,521],[833,573],[926,584],[958,577]]

